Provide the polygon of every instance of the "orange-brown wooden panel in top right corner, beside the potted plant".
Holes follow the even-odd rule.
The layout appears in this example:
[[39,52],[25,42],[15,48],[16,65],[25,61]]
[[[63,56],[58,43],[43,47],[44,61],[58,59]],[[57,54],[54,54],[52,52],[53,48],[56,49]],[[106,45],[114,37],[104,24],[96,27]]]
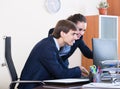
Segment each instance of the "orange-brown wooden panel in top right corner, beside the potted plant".
[[120,16],[120,0],[107,0],[109,3],[108,15]]

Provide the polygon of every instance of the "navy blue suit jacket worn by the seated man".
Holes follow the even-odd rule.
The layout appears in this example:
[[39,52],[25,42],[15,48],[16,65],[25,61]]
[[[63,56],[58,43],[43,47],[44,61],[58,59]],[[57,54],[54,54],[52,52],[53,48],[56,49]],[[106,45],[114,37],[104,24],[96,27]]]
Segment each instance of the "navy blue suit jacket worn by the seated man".
[[[22,80],[80,78],[79,67],[67,68],[59,56],[52,36],[38,42],[31,51],[21,73]],[[32,89],[20,84],[18,89]]]

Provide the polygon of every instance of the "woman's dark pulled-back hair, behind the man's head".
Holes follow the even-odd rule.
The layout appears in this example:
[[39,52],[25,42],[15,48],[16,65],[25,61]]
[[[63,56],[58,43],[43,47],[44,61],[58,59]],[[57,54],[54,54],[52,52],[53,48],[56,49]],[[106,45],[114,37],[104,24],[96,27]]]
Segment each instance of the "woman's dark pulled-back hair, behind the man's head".
[[71,15],[70,17],[67,18],[67,20],[70,20],[74,22],[75,24],[77,24],[78,21],[85,22],[85,23],[87,22],[85,16],[82,14]]

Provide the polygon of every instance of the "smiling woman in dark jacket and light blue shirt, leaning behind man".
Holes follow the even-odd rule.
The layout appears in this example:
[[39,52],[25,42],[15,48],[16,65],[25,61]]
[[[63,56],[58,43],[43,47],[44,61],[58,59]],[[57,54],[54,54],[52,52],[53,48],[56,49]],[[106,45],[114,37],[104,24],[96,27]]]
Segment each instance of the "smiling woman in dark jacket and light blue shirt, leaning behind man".
[[[71,47],[68,45],[62,47],[59,52],[59,55],[64,60],[64,64],[66,65],[66,67],[68,67],[69,65],[68,58],[75,52],[77,48],[80,49],[81,53],[85,57],[89,59],[93,58],[93,52],[88,48],[88,46],[83,41],[83,35],[87,27],[87,21],[85,16],[78,13],[78,14],[71,15],[70,17],[67,18],[67,20],[74,22],[77,25],[79,31],[77,35],[78,39],[75,41],[75,43]],[[48,32],[48,35],[52,34],[53,30],[54,28],[50,29]]]

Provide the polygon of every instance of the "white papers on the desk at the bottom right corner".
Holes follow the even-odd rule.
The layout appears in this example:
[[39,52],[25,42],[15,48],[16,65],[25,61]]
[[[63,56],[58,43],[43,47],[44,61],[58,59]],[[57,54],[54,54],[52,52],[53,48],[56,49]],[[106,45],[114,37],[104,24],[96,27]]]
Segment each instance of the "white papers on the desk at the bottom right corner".
[[82,86],[83,88],[114,88],[114,89],[120,89],[120,83],[114,84],[114,83],[89,83]]

